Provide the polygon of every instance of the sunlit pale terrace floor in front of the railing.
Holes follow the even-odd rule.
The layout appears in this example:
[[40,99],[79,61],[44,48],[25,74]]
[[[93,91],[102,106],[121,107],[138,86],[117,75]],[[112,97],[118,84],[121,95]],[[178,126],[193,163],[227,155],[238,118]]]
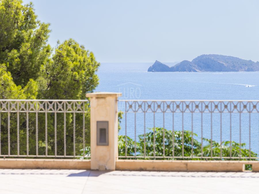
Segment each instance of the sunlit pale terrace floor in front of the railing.
[[0,193],[258,193],[259,172],[0,169]]

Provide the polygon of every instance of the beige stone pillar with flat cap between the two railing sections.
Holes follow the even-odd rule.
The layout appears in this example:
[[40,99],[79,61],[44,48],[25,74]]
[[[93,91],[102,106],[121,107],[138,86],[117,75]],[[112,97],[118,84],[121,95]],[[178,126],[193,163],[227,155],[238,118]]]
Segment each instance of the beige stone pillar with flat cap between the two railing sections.
[[[91,105],[91,169],[115,170],[118,157],[117,99],[121,93],[88,93]],[[108,121],[108,145],[97,145],[97,122]]]

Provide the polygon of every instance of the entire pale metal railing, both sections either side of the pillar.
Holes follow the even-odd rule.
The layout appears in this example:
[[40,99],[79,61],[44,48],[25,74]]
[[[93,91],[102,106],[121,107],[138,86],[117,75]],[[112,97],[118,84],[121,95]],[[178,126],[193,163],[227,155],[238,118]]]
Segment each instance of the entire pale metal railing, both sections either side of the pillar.
[[[0,157],[90,158],[89,110],[87,100],[0,100]],[[118,110],[119,158],[258,160],[258,101],[119,100]]]

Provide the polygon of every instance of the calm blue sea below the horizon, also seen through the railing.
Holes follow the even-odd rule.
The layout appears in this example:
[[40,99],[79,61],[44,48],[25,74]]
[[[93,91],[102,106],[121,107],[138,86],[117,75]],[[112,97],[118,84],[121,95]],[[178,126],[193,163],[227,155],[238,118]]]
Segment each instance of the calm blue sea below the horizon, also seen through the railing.
[[[120,99],[144,100],[258,100],[259,72],[147,72],[152,63],[101,64],[98,76],[100,83],[95,91],[121,92]],[[257,108],[259,104],[257,104]],[[119,105],[123,110],[123,105]],[[156,113],[155,126],[163,127],[163,114]],[[136,138],[144,132],[143,113],[127,114],[127,135]],[[175,114],[174,128],[182,130],[182,115]],[[204,114],[203,136],[220,141],[220,114]],[[166,114],[165,128],[172,130],[172,115]],[[241,120],[241,123],[239,121]],[[191,114],[184,114],[184,130],[191,130]],[[259,114],[232,114],[231,127],[228,114],[222,114],[222,140],[246,143],[259,153]],[[121,123],[121,135],[125,135],[125,120]],[[152,128],[153,115],[146,115],[145,130]],[[211,133],[212,128],[212,133]],[[231,129],[230,129],[231,128]],[[240,133],[241,128],[241,133]],[[249,143],[250,130],[250,143]],[[201,140],[200,114],[193,116],[193,131]]]

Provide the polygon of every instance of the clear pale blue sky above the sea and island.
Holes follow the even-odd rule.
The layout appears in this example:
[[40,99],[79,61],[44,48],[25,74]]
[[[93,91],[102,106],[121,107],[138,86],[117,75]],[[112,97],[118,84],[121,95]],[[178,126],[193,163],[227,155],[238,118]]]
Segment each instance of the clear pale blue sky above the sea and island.
[[31,1],[38,18],[51,23],[52,46],[73,38],[99,62],[175,62],[201,54],[259,61],[256,0]]

